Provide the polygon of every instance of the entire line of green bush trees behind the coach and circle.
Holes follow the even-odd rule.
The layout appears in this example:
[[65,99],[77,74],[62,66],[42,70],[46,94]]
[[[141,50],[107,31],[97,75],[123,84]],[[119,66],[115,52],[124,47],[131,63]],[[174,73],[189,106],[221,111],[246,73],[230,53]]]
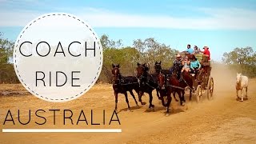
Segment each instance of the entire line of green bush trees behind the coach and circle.
[[[101,37],[103,47],[102,73],[98,82],[111,83],[112,63],[120,64],[123,75],[135,75],[137,62],[146,63],[150,71],[154,71],[154,62],[162,61],[162,68],[172,66],[178,50],[157,42],[154,38],[134,40],[132,46],[123,46],[122,40],[111,40],[106,34]],[[0,33],[0,83],[18,83],[18,78],[12,64],[14,42],[2,37]],[[256,52],[251,47],[235,48],[230,53],[224,53],[222,63],[245,74],[250,78],[256,77]]]

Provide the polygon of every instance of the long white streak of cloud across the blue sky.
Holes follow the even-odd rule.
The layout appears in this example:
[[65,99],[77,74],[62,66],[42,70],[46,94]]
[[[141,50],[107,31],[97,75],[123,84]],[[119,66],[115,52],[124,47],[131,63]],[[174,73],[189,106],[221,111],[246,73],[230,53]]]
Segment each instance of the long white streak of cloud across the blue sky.
[[[93,27],[148,27],[192,30],[256,30],[256,11],[238,8],[210,9],[198,8],[206,14],[202,18],[176,18],[165,14],[122,14],[110,10],[91,7],[74,9],[54,9],[77,15]],[[42,12],[0,10],[0,26],[26,26],[30,20],[44,14]]]

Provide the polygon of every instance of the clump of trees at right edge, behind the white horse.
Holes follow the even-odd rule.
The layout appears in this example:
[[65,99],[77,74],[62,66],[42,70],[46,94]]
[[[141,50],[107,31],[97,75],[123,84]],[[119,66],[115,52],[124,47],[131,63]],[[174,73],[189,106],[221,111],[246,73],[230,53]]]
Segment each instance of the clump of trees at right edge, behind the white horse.
[[252,47],[235,48],[224,53],[222,62],[238,73],[250,78],[256,77],[256,51]]

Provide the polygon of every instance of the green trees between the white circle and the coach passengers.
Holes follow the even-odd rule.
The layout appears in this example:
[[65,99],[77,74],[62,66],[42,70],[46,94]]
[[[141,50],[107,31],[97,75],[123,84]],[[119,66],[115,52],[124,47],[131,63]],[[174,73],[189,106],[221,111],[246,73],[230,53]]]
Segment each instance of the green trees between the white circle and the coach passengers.
[[134,40],[133,46],[122,46],[122,40],[111,40],[106,34],[102,35],[103,47],[102,73],[98,82],[111,82],[112,63],[120,64],[122,75],[135,75],[137,62],[146,63],[154,70],[154,62],[162,61],[163,68],[170,68],[178,50],[171,49],[154,38]]

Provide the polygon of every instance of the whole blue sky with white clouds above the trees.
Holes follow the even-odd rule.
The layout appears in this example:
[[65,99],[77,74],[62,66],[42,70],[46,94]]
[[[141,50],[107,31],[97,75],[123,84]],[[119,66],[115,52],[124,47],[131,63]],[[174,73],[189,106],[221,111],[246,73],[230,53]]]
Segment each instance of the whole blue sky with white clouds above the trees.
[[187,44],[209,46],[215,61],[235,47],[256,50],[256,0],[0,0],[0,32],[15,41],[28,22],[53,12],[74,14],[123,46],[138,38],[180,51]]

